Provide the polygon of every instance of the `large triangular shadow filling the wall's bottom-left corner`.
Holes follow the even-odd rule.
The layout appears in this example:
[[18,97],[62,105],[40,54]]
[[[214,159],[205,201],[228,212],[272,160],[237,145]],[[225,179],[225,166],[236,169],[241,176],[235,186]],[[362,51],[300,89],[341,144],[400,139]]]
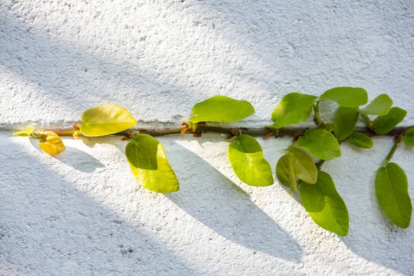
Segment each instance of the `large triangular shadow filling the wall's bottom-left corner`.
[[[141,225],[11,142],[0,152],[0,274],[196,275]],[[20,169],[17,169],[20,168]],[[94,185],[91,183],[90,185]]]

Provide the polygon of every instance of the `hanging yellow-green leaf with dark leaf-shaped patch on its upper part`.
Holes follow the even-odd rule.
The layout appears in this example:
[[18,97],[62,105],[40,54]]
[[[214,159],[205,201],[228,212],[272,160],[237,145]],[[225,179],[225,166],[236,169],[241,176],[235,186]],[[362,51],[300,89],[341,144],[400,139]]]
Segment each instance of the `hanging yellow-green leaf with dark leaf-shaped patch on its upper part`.
[[157,193],[179,190],[178,179],[157,139],[147,134],[135,135],[125,152],[132,173],[144,188]]

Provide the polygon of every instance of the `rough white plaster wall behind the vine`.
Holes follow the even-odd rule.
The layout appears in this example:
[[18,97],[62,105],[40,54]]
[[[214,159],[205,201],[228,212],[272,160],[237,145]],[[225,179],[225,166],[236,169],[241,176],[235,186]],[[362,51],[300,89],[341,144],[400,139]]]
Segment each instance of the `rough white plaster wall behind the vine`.
[[[413,275],[414,228],[391,225],[373,188],[390,139],[324,166],[350,213],[337,237],[279,184],[240,183],[223,137],[161,138],[181,190],[159,195],[137,188],[119,139],[66,139],[50,157],[6,131],[102,103],[177,126],[217,94],[248,99],[242,124],[262,126],[287,92],[334,86],[386,92],[414,124],[413,5],[344,2],[0,1],[0,275]],[[290,143],[260,142],[273,168]]]

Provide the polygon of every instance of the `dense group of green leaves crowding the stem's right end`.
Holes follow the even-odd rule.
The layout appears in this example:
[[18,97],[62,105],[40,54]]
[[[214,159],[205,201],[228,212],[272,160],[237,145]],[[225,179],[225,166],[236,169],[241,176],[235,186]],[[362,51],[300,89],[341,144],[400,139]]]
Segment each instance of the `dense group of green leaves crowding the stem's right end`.
[[[338,105],[335,120],[328,124],[324,124],[319,115],[319,103],[322,101],[333,101]],[[272,128],[277,130],[305,121],[311,116],[312,108],[315,110],[315,120],[321,128],[306,130],[304,135],[287,149],[286,155],[277,162],[276,175],[281,184],[293,191],[299,190],[302,204],[316,224],[337,235],[348,233],[348,210],[328,173],[318,170],[317,178],[310,179],[309,176],[314,176],[316,168],[313,161],[308,161],[311,158],[309,155],[322,162],[340,157],[339,144],[344,140],[360,148],[372,148],[371,137],[355,131],[360,115],[366,120],[368,128],[377,135],[390,132],[406,116],[405,110],[391,108],[393,101],[385,94],[361,108],[366,103],[368,94],[363,88],[333,88],[319,98],[293,92],[283,97],[272,115],[275,123]],[[371,121],[368,115],[377,117]],[[414,146],[414,129],[406,131],[403,141],[408,146]],[[297,148],[302,149],[300,154]],[[397,226],[408,227],[412,207],[404,170],[395,163],[386,163],[377,171],[375,188],[386,216]]]

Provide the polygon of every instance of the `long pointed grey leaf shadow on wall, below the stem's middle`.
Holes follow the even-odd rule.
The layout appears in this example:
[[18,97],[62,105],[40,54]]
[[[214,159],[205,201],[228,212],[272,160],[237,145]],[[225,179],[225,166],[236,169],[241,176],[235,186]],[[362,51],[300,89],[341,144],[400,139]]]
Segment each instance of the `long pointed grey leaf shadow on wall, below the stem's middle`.
[[[180,193],[166,194],[168,199],[201,224],[236,244],[288,261],[301,262],[302,248],[299,244],[257,207],[242,188],[181,145],[177,155],[179,159],[188,159],[189,162],[183,171],[177,169]],[[190,175],[188,172],[191,172]],[[204,177],[208,177],[208,181]]]

